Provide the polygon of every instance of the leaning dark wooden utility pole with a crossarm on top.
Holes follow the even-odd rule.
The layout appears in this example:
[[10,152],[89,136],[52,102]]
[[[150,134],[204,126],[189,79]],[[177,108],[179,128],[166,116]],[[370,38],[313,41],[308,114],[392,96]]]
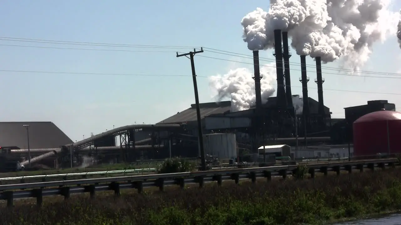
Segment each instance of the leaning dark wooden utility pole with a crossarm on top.
[[201,169],[206,171],[206,161],[205,161],[205,149],[203,149],[203,132],[202,132],[202,121],[201,121],[201,108],[199,107],[199,96],[198,96],[198,84],[196,84],[196,73],[195,73],[195,63],[194,63],[194,55],[196,53],[202,53],[203,48],[200,51],[196,51],[194,49],[193,52],[188,52],[184,54],[178,54],[177,58],[181,56],[185,56],[191,60],[191,69],[192,69],[192,80],[194,82],[194,92],[195,92],[195,104],[196,104],[196,119],[198,121],[198,141],[199,141],[199,149],[201,150]]

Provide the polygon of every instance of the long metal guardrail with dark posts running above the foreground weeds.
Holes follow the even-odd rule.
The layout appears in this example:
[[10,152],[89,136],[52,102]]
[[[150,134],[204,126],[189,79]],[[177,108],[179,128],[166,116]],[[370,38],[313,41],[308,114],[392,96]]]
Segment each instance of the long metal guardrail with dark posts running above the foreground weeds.
[[[384,169],[386,165],[395,167],[399,164],[397,159],[379,159],[302,166],[307,167],[308,173],[314,178],[316,172],[327,175],[328,171],[335,171],[337,175],[340,175],[341,170],[352,173],[353,169],[358,169],[363,172],[365,168],[373,170],[379,167]],[[119,196],[121,189],[137,189],[141,193],[145,187],[159,187],[160,191],[163,191],[166,185],[179,185],[183,188],[185,184],[197,183],[199,187],[203,187],[205,182],[215,181],[221,186],[224,180],[234,180],[235,183],[239,183],[241,179],[250,179],[252,183],[255,183],[258,177],[264,177],[267,181],[271,181],[273,176],[281,176],[286,179],[288,175],[296,173],[299,168],[299,165],[287,165],[0,185],[0,191],[2,191],[0,199],[6,200],[7,205],[11,207],[14,199],[34,197],[37,205],[40,206],[43,203],[43,196],[62,195],[68,199],[71,194],[90,193],[90,196],[94,197],[96,191],[114,191],[115,195]]]

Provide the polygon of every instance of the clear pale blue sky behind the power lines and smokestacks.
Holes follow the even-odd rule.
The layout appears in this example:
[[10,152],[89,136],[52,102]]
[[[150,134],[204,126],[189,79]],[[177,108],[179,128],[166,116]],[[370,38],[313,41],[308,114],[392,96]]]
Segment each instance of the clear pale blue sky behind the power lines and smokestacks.
[[[99,0],[3,0],[0,36],[73,42],[204,46],[251,55],[243,42],[241,19],[248,12],[269,7],[266,0],[253,1],[99,1]],[[393,10],[398,11],[401,2]],[[1,38],[0,38],[1,39]],[[5,46],[14,45],[14,46]],[[34,48],[97,48],[143,52]],[[176,58],[175,51],[150,52],[148,48],[111,48],[0,40],[1,121],[53,121],[71,139],[91,132],[136,123],[157,123],[194,103],[190,62]],[[189,51],[190,48],[186,49]],[[271,51],[260,57],[273,58]],[[401,50],[395,37],[375,45],[363,70],[397,72]],[[226,60],[216,60],[207,57]],[[225,74],[237,67],[252,68],[244,58],[205,51],[195,56],[199,76]],[[239,61],[229,62],[227,60]],[[290,63],[299,63],[293,56]],[[307,64],[314,64],[307,59]],[[337,63],[325,66],[338,67]],[[298,65],[291,66],[299,69]],[[43,73],[40,71],[67,72]],[[308,71],[314,71],[309,68]],[[98,74],[68,74],[103,73]],[[324,103],[333,117],[344,107],[385,99],[401,104],[399,79],[350,77],[324,74]],[[111,75],[114,74],[114,75]],[[131,74],[115,75],[115,74]],[[147,76],[134,76],[143,74]],[[183,75],[183,76],[177,76]],[[186,76],[188,75],[188,76]],[[292,92],[301,94],[299,70],[292,73]],[[309,95],[317,99],[316,74],[308,73]],[[198,78],[201,102],[212,100],[208,79]],[[345,92],[327,89],[371,92]],[[377,94],[395,93],[395,94]],[[399,93],[399,94],[397,94]]]

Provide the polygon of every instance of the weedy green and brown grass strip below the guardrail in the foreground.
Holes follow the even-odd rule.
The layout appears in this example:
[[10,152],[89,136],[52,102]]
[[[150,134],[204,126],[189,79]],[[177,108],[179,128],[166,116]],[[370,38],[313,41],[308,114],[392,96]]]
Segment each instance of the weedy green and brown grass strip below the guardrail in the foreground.
[[4,225],[324,224],[401,209],[401,168],[316,179],[54,198],[2,209]]

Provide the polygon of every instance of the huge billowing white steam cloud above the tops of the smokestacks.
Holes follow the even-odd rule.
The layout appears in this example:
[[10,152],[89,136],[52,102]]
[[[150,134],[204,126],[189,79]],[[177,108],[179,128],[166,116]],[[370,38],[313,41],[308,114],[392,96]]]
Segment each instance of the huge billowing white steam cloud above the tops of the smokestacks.
[[273,47],[273,30],[288,31],[298,55],[320,56],[322,62],[343,60],[359,70],[374,43],[397,30],[400,14],[391,0],[271,0],[268,12],[257,8],[241,21],[250,50]]

